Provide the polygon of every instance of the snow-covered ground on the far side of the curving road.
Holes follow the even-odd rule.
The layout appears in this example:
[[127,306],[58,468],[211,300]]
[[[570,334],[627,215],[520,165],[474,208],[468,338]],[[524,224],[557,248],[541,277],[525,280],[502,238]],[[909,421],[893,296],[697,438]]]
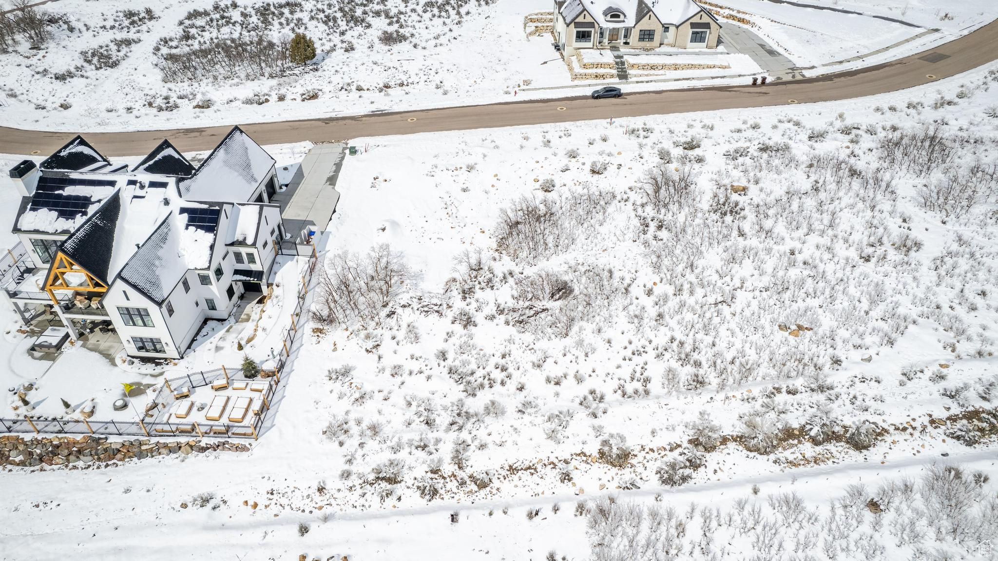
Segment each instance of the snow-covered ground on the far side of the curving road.
[[[867,16],[762,0],[720,4],[749,12],[746,17],[760,26],[756,31],[801,66],[869,52],[920,31]],[[859,11],[864,13],[890,14],[899,0],[862,4]],[[266,12],[271,19],[265,22],[250,9],[263,3],[237,5],[229,11],[212,8],[209,0],[59,0],[42,6],[69,23],[58,25],[55,37],[41,49],[22,41],[0,54],[0,117],[8,125],[36,130],[166,129],[501,102],[514,96],[552,98],[590,87],[571,81],[550,36],[527,36],[524,16],[552,8],[541,0],[451,0],[419,9],[391,0],[376,7],[356,4],[355,10],[308,0],[293,16],[286,7]],[[942,27],[944,33],[828,71],[910,54],[968,33],[998,15],[995,4],[986,0],[948,3],[945,10],[954,19],[938,25],[928,6],[918,4],[906,12],[918,25]],[[292,17],[300,22],[292,22]],[[307,68],[287,70],[279,77],[246,79],[236,72],[239,76],[227,79],[212,72],[210,78],[171,78],[165,83],[157,66],[163,66],[165,53],[208,48],[213,39],[240,32],[255,37],[257,29],[264,29],[263,35],[273,41],[286,40],[292,29],[305,31],[314,39],[318,57]],[[389,30],[409,38],[386,44],[380,37]],[[205,60],[207,55],[193,58]],[[747,56],[727,59],[730,69],[665,75],[694,81],[635,83],[629,91],[744,83],[744,78],[721,77],[758,72]],[[578,87],[560,89],[573,84]]]

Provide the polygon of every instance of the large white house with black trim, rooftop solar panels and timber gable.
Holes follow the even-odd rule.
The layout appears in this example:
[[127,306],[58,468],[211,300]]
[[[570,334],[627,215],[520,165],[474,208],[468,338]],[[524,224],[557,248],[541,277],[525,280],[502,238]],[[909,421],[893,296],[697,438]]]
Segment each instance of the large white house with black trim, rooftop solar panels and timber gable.
[[10,177],[14,308],[54,314],[74,338],[110,323],[132,356],[183,356],[207,319],[265,289],[284,236],[274,161],[238,127],[197,168],[169,141],[116,166],[78,136]]

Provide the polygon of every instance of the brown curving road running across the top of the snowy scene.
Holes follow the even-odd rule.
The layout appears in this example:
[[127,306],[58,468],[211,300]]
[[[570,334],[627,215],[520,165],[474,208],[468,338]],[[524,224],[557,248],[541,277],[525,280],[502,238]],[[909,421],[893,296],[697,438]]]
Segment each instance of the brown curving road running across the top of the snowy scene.
[[[893,62],[766,86],[719,86],[636,93],[617,100],[594,101],[589,97],[572,97],[258,123],[243,128],[257,143],[270,145],[834,101],[903,90],[966,72],[995,59],[998,59],[998,21],[929,51]],[[170,138],[182,151],[193,152],[213,148],[229,129],[229,126],[222,126],[92,133],[87,135],[87,140],[100,146],[109,156],[141,156],[164,137]],[[76,132],[84,131],[73,133]],[[37,150],[48,154],[66,144],[67,134],[0,127],[0,153],[26,154]]]

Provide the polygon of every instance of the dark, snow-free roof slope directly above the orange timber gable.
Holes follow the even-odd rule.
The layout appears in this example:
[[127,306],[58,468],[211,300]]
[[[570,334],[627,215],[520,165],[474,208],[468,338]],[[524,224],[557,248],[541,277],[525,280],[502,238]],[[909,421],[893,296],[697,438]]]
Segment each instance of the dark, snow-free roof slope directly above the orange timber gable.
[[63,241],[60,248],[69,259],[105,284],[110,281],[108,267],[115,249],[115,230],[121,211],[121,191],[115,191],[100,209]]

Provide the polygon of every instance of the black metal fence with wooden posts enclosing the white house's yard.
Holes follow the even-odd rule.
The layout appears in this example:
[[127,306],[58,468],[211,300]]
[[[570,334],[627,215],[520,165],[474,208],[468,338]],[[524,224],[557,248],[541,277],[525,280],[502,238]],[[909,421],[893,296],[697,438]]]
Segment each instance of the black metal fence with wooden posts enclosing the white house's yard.
[[[274,360],[274,375],[266,378],[258,378],[267,381],[267,384],[266,388],[259,392],[263,403],[260,407],[259,414],[253,415],[249,424],[202,424],[194,421],[169,422],[169,414],[166,415],[166,421],[154,420],[153,422],[116,420],[92,421],[89,419],[43,420],[25,417],[21,419],[0,418],[0,432],[101,434],[116,436],[183,436],[186,434],[193,434],[198,436],[225,436],[226,438],[258,437],[260,428],[263,426],[263,421],[270,413],[269,404],[272,402],[273,396],[277,392],[277,387],[280,383],[280,372],[284,367],[287,357],[291,353],[291,349],[294,348],[294,344],[301,338],[302,330],[298,328],[299,321],[301,314],[304,312],[304,301],[308,294],[308,282],[311,281],[312,274],[315,271],[315,265],[318,263],[314,246],[308,245],[307,251],[304,250],[304,247],[299,248],[298,246],[301,245],[296,244],[292,250],[289,250],[289,252],[293,253],[285,253],[283,247],[281,247],[278,251],[280,255],[284,256],[308,257],[309,263],[308,267],[305,269],[304,275],[301,276],[301,284],[299,285],[298,297],[296,298],[297,302],[294,305],[294,311],[291,312],[291,325],[284,333],[281,355]],[[2,263],[0,263],[0,271],[3,271]],[[234,380],[246,381],[248,383],[258,381],[258,379],[250,380],[250,378],[244,376],[242,366],[232,368],[227,366],[224,368],[217,368],[215,370],[190,372],[184,374],[183,376],[166,378],[163,386],[160,387],[159,391],[157,391],[154,396],[153,401],[147,405],[146,413],[153,413],[155,410],[156,417],[154,418],[159,419],[159,417],[165,412],[169,413],[171,406],[173,406],[174,402],[176,402],[177,399],[174,396],[174,392],[185,387],[194,389],[196,387],[211,385],[222,378],[228,378],[230,383]]]

